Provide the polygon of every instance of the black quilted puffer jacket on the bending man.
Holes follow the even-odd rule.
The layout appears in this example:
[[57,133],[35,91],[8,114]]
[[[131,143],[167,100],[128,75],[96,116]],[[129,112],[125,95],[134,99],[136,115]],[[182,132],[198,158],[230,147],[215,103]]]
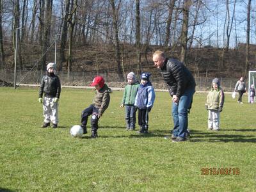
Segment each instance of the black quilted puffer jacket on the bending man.
[[185,90],[189,88],[195,89],[194,77],[188,68],[178,60],[166,58],[163,67],[161,67],[161,74],[171,96],[176,95],[180,97]]

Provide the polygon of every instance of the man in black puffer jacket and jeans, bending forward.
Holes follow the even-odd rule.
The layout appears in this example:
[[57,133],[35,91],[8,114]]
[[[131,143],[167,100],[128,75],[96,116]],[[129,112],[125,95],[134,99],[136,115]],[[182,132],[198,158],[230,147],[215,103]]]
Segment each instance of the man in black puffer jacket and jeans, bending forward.
[[195,79],[183,63],[168,59],[163,51],[153,54],[154,65],[160,68],[165,83],[172,96],[173,142],[186,140],[188,129],[188,109],[195,93]]

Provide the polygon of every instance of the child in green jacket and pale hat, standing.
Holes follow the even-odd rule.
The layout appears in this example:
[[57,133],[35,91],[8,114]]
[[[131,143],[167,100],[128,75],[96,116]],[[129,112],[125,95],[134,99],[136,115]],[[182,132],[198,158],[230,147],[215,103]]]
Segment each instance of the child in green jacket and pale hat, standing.
[[135,130],[136,125],[136,106],[134,106],[135,97],[137,95],[140,83],[138,82],[134,72],[127,75],[127,85],[124,88],[124,95],[121,102],[121,108],[125,106],[126,130]]

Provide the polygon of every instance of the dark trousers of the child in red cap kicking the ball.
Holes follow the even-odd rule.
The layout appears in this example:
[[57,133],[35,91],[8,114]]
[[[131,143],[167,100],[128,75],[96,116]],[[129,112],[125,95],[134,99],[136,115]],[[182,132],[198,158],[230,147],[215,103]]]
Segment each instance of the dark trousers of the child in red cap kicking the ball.
[[92,118],[91,118],[92,131],[97,131],[97,129],[99,128],[99,125],[98,125],[99,108],[95,108],[93,104],[91,104],[88,108],[82,111],[81,124],[87,125],[88,116],[90,115],[92,115]]

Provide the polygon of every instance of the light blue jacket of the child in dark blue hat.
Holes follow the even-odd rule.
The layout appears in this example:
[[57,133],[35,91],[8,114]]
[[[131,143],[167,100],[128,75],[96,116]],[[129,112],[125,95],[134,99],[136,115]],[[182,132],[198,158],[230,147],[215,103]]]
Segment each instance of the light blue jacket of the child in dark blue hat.
[[135,97],[134,106],[137,106],[140,109],[152,108],[155,97],[155,91],[150,82],[145,85],[140,84],[140,88]]

